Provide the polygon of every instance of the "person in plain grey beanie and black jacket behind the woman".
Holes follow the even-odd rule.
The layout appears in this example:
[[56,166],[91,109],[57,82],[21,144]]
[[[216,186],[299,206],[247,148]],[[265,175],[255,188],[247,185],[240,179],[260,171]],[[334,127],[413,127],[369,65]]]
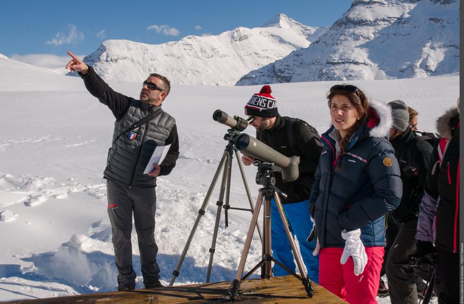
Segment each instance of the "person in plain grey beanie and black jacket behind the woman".
[[385,270],[391,303],[412,304],[417,303],[418,276],[409,260],[416,251],[417,216],[425,179],[430,172],[432,145],[409,128],[408,106],[403,101],[391,101],[388,105],[393,119],[389,140],[400,164],[403,196],[400,206],[388,214],[389,219],[399,225],[399,230],[394,240],[388,240],[392,242]]

